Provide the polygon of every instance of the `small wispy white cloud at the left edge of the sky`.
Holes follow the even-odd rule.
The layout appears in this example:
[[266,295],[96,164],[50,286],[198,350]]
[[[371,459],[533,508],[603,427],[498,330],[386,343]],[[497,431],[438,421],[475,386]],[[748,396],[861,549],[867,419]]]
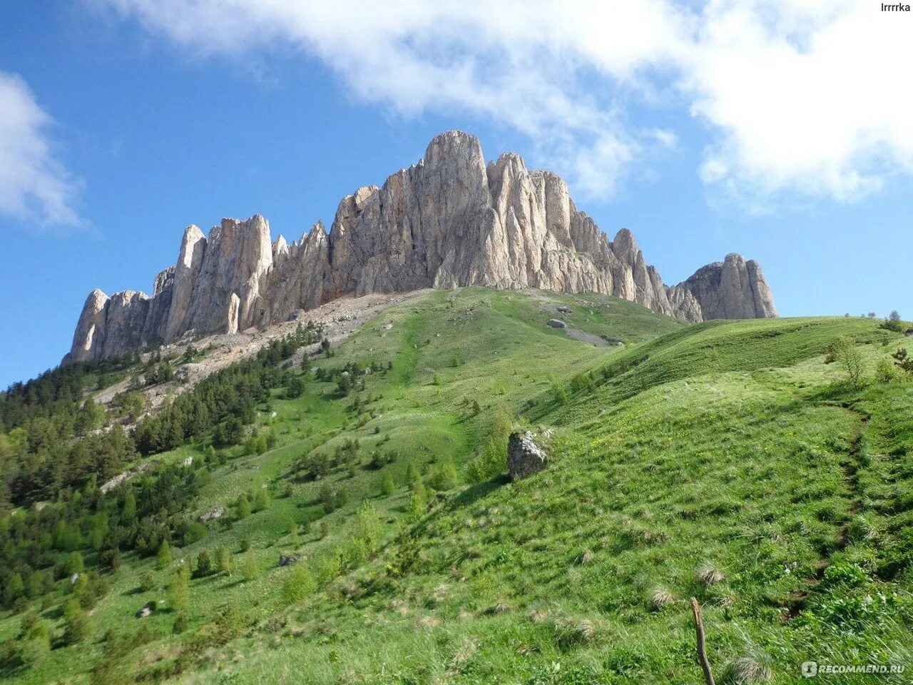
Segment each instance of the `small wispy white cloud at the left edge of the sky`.
[[0,214],[42,226],[78,226],[79,183],[55,158],[52,120],[26,82],[0,71]]

